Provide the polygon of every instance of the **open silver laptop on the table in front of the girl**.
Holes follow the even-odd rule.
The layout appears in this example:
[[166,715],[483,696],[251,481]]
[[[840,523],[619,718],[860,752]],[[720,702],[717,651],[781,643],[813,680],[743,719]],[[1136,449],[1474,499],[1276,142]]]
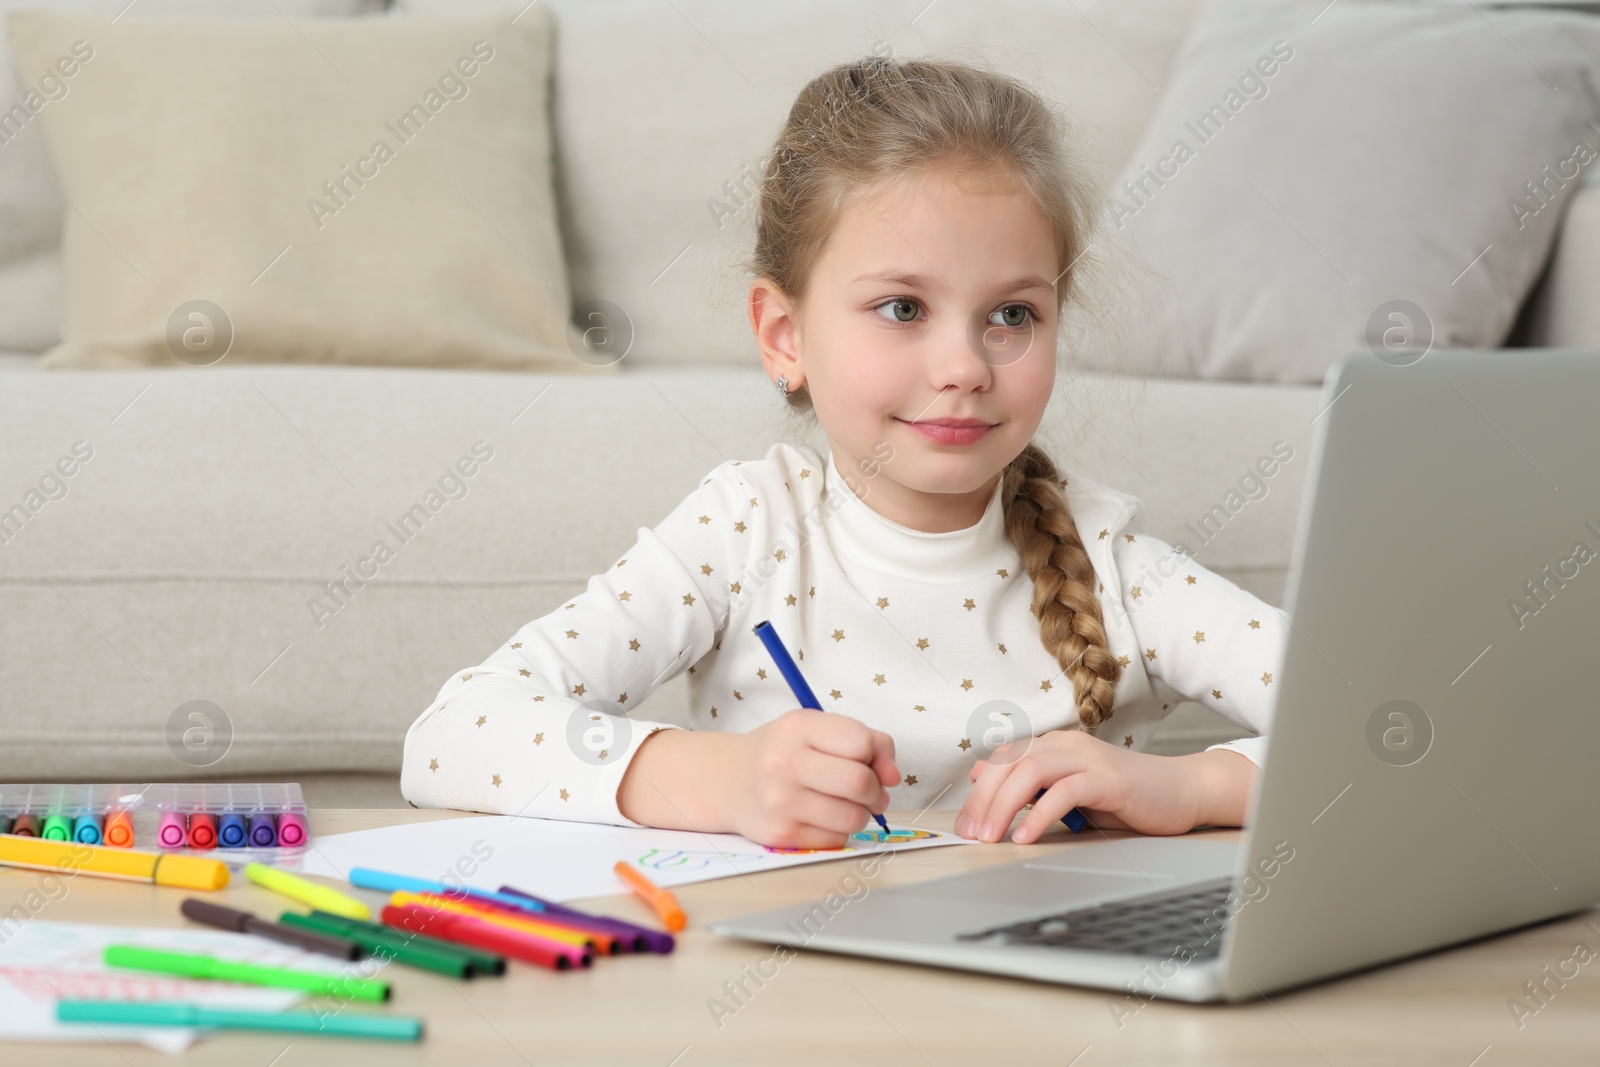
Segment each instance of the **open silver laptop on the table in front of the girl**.
[[1600,352],[1347,355],[1318,406],[1293,629],[1237,841],[1090,829],[710,929],[1122,990],[1131,1013],[1600,901]]

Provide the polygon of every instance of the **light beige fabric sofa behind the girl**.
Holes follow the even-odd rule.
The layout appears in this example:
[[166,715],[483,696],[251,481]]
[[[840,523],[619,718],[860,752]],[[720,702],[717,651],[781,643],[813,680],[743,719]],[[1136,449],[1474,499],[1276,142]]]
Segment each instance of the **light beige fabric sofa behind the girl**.
[[[6,352],[0,781],[315,779],[331,792],[314,801],[402,805],[402,739],[446,675],[581,590],[717,464],[776,440],[822,446],[760,368],[741,306],[749,230],[736,226],[805,78],[872,50],[1014,53],[1077,118],[1110,189],[1200,11],[541,6],[555,29],[570,299],[627,309],[634,350],[611,373],[573,374],[226,358],[59,370],[38,365],[48,330],[34,350]],[[1504,344],[1600,344],[1597,210],[1589,186],[1565,205]],[[58,203],[42,226],[70,211]],[[45,280],[8,290],[26,296],[0,322],[59,317],[59,274],[38,270]],[[662,298],[666,283],[678,288]],[[1282,603],[1322,405],[1317,381],[1086,371],[1069,352],[1040,443],[1066,470],[1139,496],[1149,533]],[[1254,477],[1282,445],[1291,458]],[[374,571],[360,561],[378,539],[392,553]],[[678,675],[638,713],[682,718],[685,697]],[[1182,705],[1155,750],[1240,733]]]

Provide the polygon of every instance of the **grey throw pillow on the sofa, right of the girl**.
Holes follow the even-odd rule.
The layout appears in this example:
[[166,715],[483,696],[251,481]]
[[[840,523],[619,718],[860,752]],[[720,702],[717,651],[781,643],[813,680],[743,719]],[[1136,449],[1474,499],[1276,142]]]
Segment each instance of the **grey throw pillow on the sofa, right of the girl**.
[[1318,382],[1406,322],[1419,347],[1506,339],[1595,158],[1600,21],[1323,6],[1197,22],[1107,205],[1126,302],[1082,365]]

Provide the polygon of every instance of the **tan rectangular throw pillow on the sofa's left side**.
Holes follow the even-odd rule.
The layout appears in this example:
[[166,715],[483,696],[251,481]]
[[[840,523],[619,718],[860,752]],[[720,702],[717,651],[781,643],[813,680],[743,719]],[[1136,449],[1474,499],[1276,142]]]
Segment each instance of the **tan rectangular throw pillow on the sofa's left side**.
[[24,78],[94,48],[72,106],[42,114],[75,208],[45,365],[205,363],[230,325],[229,362],[590,370],[566,346],[541,6],[515,24],[24,13],[11,38]]

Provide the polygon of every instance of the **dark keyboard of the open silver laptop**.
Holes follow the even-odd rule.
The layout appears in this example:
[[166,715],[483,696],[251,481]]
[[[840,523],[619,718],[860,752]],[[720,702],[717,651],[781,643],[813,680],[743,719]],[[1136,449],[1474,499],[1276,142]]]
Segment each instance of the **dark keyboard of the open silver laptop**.
[[957,941],[1003,937],[1013,945],[1083,949],[1141,957],[1170,957],[1184,947],[1194,960],[1213,960],[1222,950],[1229,912],[1222,905],[1232,878],[1202,881],[1178,893],[1080,907],[1019,923],[957,934]]

